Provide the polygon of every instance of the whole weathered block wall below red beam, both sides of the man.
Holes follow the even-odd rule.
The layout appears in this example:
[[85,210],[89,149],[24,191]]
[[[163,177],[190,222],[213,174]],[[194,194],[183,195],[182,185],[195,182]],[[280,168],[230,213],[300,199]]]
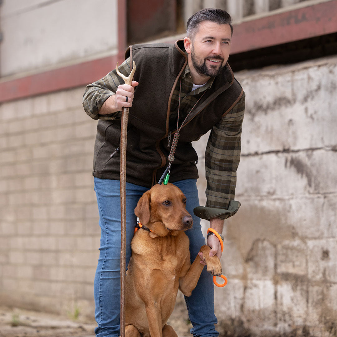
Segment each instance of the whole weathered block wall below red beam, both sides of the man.
[[[222,336],[336,335],[336,71],[333,57],[237,74],[242,206],[224,231],[228,285],[215,289]],[[96,122],[83,91],[0,105],[2,304],[93,314]],[[202,178],[199,190],[203,203]]]

